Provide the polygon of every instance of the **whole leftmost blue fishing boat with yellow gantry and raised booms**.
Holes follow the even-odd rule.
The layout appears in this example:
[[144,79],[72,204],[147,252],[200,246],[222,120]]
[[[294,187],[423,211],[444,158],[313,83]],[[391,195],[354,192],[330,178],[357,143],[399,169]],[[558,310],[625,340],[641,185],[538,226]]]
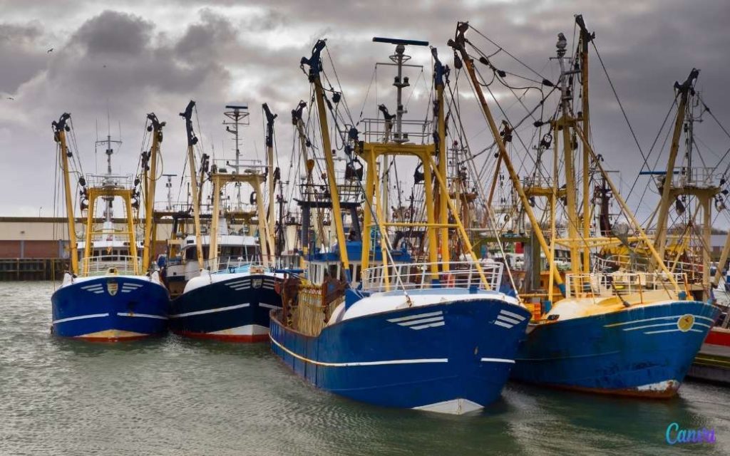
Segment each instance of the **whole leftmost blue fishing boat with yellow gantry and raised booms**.
[[[145,234],[143,246],[138,244],[136,236],[133,209],[139,207],[139,179],[133,183],[131,175],[112,174],[111,136],[105,142],[107,173],[87,174],[78,180],[80,207],[86,215],[85,238],[77,242],[73,201],[77,192],[71,190],[73,153],[66,141],[66,133],[71,131],[69,118],[64,113],[58,122],[53,122],[66,193],[71,263],[61,287],[51,296],[53,333],[92,341],[139,339],[165,333],[169,295],[158,272],[150,268],[149,233]],[[152,131],[151,163],[156,163],[164,123],[154,114],[147,115],[147,120]],[[148,173],[145,179],[150,179]],[[145,188],[151,189],[145,196],[145,210],[150,212],[154,190]],[[116,198],[122,201],[125,211],[122,229],[115,228],[112,220],[112,202]],[[98,205],[99,200],[102,203]],[[97,206],[104,209],[101,228],[96,219]]]

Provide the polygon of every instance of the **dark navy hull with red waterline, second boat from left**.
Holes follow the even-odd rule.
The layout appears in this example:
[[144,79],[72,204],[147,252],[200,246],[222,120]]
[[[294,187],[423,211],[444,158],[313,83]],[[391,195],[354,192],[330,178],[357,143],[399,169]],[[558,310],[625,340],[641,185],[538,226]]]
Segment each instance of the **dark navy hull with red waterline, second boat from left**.
[[265,274],[212,282],[172,300],[170,329],[177,334],[226,341],[269,340],[269,312],[281,309],[274,290],[282,279]]

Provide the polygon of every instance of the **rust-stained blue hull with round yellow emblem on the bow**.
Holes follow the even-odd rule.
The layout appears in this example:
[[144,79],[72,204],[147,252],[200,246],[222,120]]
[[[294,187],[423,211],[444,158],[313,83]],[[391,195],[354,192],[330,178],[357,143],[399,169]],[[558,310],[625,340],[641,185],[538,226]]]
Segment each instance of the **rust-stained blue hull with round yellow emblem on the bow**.
[[520,343],[512,378],[596,393],[671,396],[718,313],[710,304],[681,301],[538,325]]

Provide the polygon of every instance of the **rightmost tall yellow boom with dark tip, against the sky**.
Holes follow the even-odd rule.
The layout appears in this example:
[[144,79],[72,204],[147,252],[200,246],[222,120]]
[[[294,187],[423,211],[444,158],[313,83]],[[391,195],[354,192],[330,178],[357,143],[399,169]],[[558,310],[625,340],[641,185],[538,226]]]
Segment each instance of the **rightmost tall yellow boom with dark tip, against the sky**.
[[689,91],[692,88],[694,80],[699,75],[698,69],[692,69],[687,80],[683,84],[675,82],[675,88],[680,91],[680,104],[677,107],[677,117],[675,118],[675,128],[672,133],[672,147],[669,149],[669,160],[666,161],[666,173],[664,174],[664,185],[661,189],[661,203],[659,204],[658,220],[656,221],[656,237],[654,248],[657,250],[659,257],[664,258],[664,244],[666,243],[666,220],[669,216],[670,193],[672,192],[672,178],[674,177],[675,161],[677,160],[677,152],[680,148],[680,136],[682,134],[682,125],[684,123],[685,111],[687,110],[687,99]]

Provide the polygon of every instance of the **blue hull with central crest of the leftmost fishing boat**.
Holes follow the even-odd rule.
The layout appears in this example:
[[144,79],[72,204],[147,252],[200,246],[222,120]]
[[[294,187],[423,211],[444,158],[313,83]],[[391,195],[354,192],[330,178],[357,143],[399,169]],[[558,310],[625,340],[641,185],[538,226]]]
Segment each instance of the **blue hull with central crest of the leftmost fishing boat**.
[[58,336],[118,340],[167,331],[169,295],[146,277],[80,280],[56,290],[51,304]]

